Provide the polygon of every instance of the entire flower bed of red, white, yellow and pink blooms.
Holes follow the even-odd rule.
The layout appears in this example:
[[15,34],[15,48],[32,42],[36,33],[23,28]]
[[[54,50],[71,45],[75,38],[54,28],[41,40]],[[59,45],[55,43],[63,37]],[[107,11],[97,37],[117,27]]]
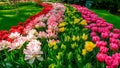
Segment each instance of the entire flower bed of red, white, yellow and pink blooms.
[[41,5],[39,13],[0,31],[1,68],[120,67],[120,29],[80,5]]

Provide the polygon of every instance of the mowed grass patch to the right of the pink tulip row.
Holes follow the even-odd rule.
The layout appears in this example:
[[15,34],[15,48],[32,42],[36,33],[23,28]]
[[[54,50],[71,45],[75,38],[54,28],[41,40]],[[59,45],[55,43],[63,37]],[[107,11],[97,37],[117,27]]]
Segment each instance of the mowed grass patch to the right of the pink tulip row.
[[99,17],[104,18],[107,22],[114,24],[114,28],[120,29],[120,16],[113,15],[106,10],[92,9]]

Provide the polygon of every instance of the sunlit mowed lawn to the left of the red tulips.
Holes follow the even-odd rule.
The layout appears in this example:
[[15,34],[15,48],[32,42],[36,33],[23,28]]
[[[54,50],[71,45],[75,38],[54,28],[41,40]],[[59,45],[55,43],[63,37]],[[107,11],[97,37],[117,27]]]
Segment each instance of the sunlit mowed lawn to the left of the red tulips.
[[20,6],[17,9],[0,10],[0,30],[9,30],[11,26],[17,25],[18,22],[24,22],[29,16],[41,10],[42,7],[35,4]]

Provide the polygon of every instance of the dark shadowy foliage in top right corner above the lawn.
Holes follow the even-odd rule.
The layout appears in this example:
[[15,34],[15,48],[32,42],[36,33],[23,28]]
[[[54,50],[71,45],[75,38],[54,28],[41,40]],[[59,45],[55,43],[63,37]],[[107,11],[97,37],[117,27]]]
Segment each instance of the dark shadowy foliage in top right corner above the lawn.
[[93,0],[93,7],[116,12],[120,8],[120,0]]

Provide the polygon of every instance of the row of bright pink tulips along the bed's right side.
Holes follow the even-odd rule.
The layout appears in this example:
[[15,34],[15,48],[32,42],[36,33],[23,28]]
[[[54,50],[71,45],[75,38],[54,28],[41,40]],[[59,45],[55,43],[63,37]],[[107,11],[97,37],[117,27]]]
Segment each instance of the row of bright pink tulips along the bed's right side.
[[[106,68],[117,68],[120,64],[120,29],[114,29],[113,24],[106,22],[104,19],[99,18],[94,12],[86,7],[72,5],[87,21],[87,29],[91,30],[90,36],[92,41],[96,43],[99,53],[96,58],[100,62],[106,63]],[[109,51],[113,51],[109,55]]]

